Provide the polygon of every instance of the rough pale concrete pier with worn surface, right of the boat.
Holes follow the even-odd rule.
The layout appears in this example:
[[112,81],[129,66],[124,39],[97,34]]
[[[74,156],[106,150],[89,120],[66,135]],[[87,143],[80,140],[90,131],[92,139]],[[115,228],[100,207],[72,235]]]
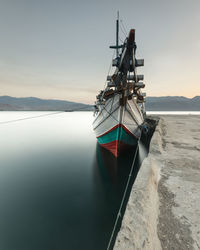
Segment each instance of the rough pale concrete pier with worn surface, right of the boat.
[[114,249],[200,249],[200,116],[160,116]]

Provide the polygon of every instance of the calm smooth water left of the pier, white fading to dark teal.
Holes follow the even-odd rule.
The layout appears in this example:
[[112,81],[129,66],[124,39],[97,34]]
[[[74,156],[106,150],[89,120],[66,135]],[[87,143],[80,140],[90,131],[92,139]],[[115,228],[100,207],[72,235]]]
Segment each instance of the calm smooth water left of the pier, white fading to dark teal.
[[1,250],[106,249],[134,153],[100,148],[92,121],[0,112]]

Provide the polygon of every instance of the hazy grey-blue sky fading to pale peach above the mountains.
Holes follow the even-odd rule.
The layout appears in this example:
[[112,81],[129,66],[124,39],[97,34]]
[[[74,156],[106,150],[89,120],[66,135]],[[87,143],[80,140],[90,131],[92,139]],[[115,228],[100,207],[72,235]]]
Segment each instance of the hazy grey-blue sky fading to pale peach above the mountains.
[[93,103],[117,10],[136,29],[147,95],[200,95],[200,0],[0,0],[0,95]]

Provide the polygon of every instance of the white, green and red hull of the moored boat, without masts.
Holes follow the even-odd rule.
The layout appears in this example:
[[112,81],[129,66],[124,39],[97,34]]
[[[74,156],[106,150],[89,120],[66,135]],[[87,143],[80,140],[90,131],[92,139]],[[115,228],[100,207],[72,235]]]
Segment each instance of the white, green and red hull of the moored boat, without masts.
[[120,98],[120,94],[116,94],[109,99],[93,123],[98,143],[115,157],[137,144],[143,123],[143,116],[134,100],[127,100],[121,106]]

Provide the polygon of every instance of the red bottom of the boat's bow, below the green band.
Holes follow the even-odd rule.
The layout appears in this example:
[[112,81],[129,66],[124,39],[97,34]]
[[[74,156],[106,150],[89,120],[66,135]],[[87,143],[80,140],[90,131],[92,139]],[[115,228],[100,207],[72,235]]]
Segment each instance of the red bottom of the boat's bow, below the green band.
[[117,140],[99,145],[109,150],[115,157],[118,157],[120,152],[130,147],[130,145]]

